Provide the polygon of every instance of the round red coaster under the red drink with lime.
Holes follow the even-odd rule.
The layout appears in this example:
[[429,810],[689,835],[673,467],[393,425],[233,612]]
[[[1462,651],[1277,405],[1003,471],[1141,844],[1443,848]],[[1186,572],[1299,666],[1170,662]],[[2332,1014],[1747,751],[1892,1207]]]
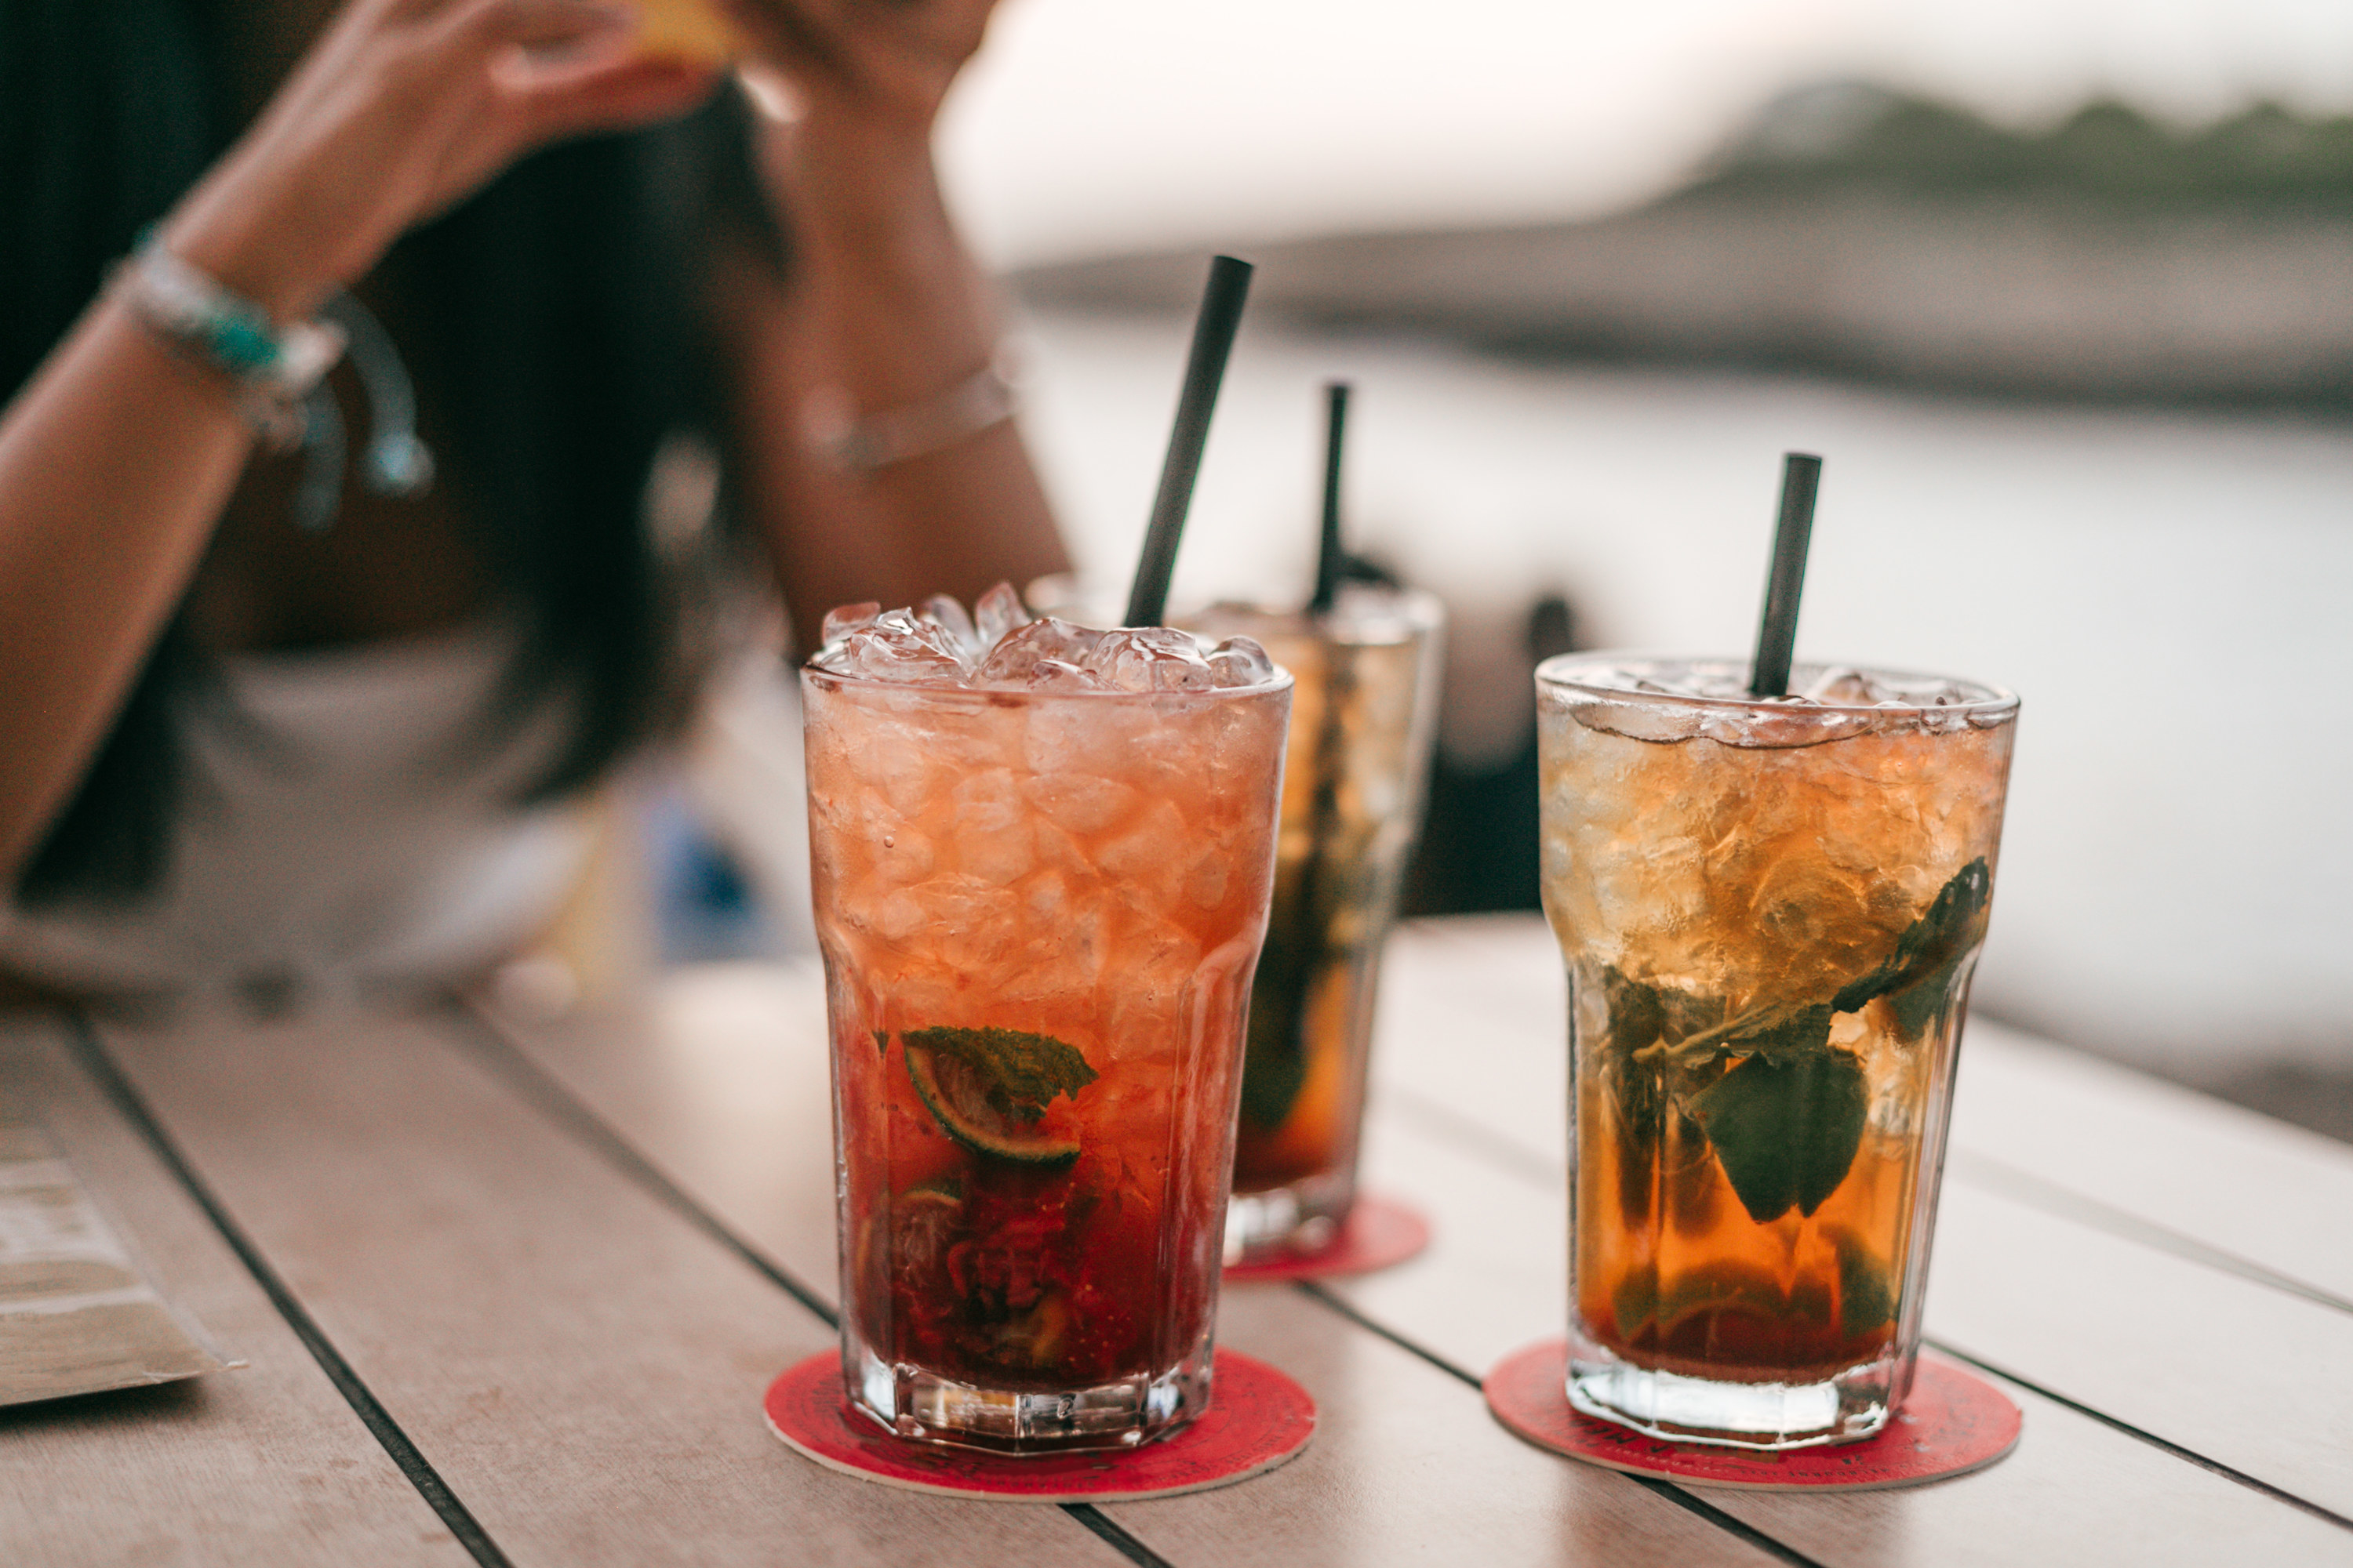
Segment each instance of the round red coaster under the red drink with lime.
[[1217,1389],[1191,1422],[1125,1453],[998,1455],[892,1436],[849,1408],[826,1352],[767,1385],[767,1429],[826,1469],[882,1486],[1000,1502],[1136,1502],[1266,1474],[1315,1436],[1308,1392],[1249,1356],[1217,1352]]

